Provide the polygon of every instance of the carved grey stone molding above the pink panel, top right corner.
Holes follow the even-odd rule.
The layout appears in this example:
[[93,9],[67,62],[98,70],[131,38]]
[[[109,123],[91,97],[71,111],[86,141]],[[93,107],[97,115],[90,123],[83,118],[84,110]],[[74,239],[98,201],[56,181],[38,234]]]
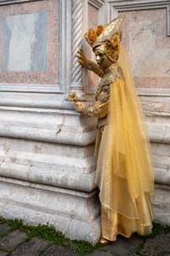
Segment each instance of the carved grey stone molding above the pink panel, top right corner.
[[117,12],[126,12],[142,9],[167,9],[167,36],[170,36],[170,1],[169,0],[109,0],[110,18],[113,19]]

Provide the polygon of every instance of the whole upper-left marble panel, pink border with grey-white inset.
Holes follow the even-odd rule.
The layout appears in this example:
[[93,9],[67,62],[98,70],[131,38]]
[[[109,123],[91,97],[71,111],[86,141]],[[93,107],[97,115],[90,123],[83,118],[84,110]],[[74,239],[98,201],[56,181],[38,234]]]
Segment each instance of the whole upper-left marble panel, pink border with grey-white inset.
[[59,83],[59,1],[0,7],[0,81]]

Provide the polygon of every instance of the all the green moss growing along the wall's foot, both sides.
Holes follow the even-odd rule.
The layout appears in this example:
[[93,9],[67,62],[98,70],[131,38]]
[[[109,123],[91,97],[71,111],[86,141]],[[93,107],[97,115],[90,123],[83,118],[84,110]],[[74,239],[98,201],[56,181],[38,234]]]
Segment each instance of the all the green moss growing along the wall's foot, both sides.
[[[86,255],[88,253],[93,253],[95,250],[101,249],[103,246],[101,244],[92,245],[88,241],[77,241],[70,240],[66,238],[61,232],[55,230],[53,225],[49,224],[39,224],[37,226],[31,226],[29,224],[23,224],[22,220],[18,219],[4,219],[0,218],[0,224],[8,224],[11,232],[14,230],[21,230],[27,233],[28,240],[32,237],[39,237],[51,244],[65,247],[67,250],[78,253],[79,255]],[[161,224],[154,223],[152,233],[149,236],[144,236],[144,242],[147,239],[153,238],[160,234],[167,234],[170,232],[170,226],[162,226]],[[136,253],[140,256],[144,243],[142,243],[137,249]]]

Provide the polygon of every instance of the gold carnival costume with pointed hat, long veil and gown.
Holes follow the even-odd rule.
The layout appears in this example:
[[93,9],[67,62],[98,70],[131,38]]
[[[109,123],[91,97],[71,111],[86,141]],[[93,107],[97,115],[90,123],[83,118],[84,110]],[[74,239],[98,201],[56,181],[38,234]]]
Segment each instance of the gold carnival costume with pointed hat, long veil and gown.
[[88,61],[87,67],[102,77],[96,102],[94,106],[75,103],[77,111],[98,117],[95,183],[101,202],[102,237],[109,241],[115,241],[118,234],[149,234],[153,218],[150,142],[121,45],[122,21],[123,16],[119,16],[85,35],[94,52],[102,51],[111,65],[101,70]]

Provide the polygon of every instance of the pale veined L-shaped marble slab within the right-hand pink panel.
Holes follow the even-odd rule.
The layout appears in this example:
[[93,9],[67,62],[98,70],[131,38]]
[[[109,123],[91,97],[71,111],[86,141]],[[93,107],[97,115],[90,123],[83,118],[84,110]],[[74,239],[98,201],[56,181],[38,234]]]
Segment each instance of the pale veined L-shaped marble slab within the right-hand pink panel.
[[156,21],[130,24],[130,61],[137,77],[170,77],[170,48],[156,49]]

